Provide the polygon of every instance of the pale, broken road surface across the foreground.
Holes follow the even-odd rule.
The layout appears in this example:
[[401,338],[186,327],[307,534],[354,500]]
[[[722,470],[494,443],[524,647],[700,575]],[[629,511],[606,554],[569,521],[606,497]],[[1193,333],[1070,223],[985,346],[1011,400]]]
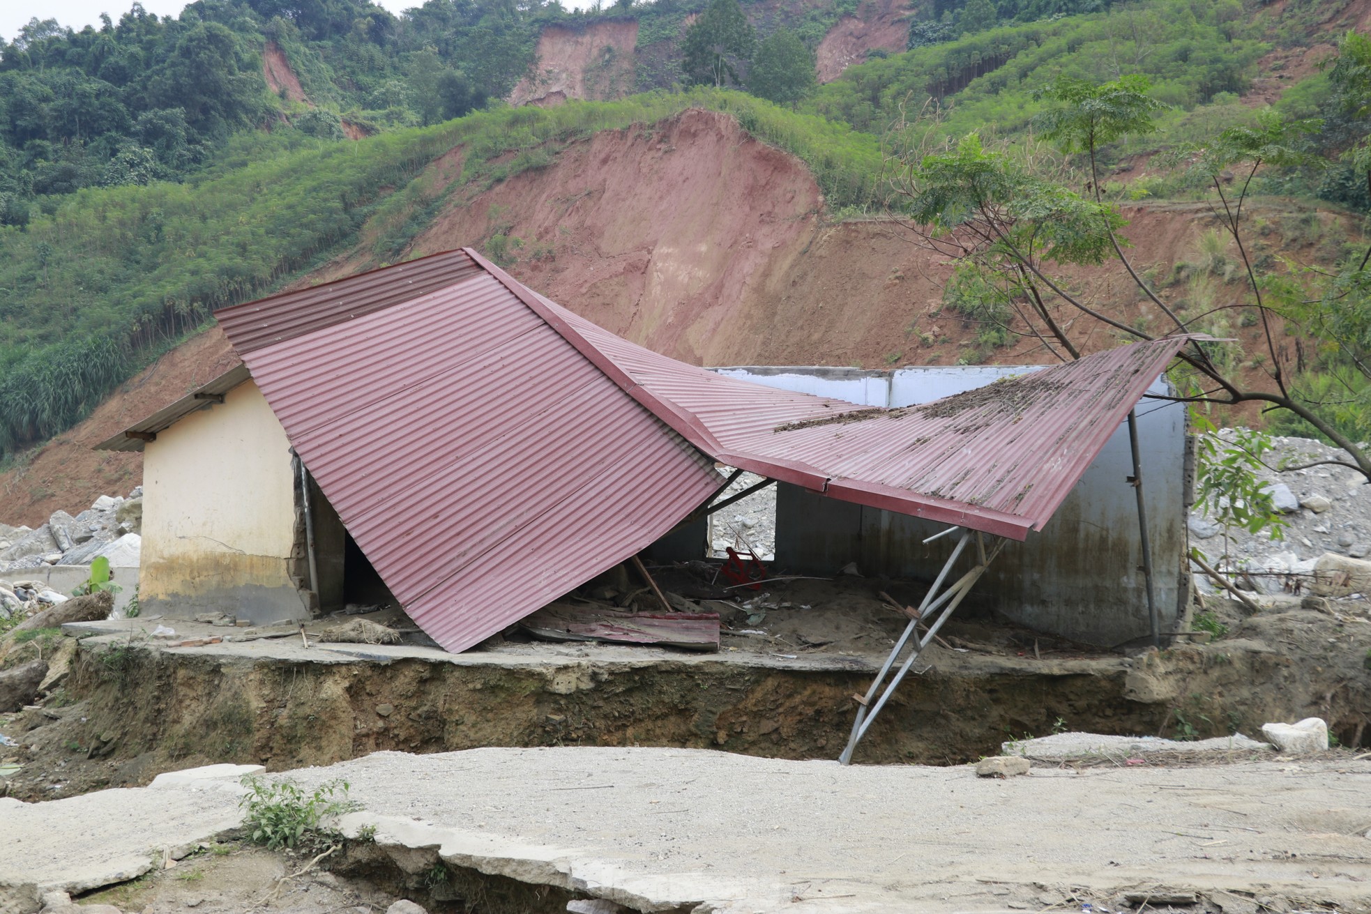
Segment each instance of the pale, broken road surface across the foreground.
[[[363,810],[343,828],[374,826],[370,854],[424,851],[638,911],[1113,910],[1130,892],[1194,892],[1223,911],[1371,911],[1371,759],[1035,766],[993,780],[969,766],[485,748],[376,752],[291,777],[345,778]],[[70,859],[89,887],[92,848],[147,847],[159,807],[182,815],[171,799],[192,789],[208,840],[225,804],[204,787],[5,810],[0,884],[64,885]],[[167,799],[140,802],[147,793]],[[73,830],[62,822],[77,804]],[[177,843],[196,837],[177,822]],[[111,866],[108,878],[126,872]]]

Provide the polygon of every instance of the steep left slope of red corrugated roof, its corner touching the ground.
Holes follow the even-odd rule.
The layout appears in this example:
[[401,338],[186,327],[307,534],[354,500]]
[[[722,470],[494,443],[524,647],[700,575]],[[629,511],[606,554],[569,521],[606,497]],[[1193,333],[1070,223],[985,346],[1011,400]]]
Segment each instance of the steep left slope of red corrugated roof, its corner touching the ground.
[[[345,282],[330,295],[354,312]],[[277,307],[314,306],[300,301]],[[391,592],[450,651],[639,552],[720,482],[480,269],[266,345],[256,312],[233,311],[221,323],[234,345],[240,333],[254,341],[240,354],[292,445]],[[299,326],[289,314],[278,323]]]

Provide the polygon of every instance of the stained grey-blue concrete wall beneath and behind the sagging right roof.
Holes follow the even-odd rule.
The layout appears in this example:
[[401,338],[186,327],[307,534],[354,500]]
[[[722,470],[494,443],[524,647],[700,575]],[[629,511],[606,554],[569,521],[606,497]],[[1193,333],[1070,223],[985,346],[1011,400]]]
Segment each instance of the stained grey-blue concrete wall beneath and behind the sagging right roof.
[[[845,396],[868,406],[909,406],[983,386],[1024,367],[957,366],[856,371],[725,369],[732,377]],[[1158,381],[1153,392],[1164,393]],[[883,399],[890,397],[890,399]],[[1186,412],[1182,404],[1143,400],[1138,407],[1143,493],[1163,632],[1175,630],[1187,600]],[[1042,532],[1010,543],[976,585],[969,608],[1001,613],[1039,632],[1113,647],[1150,632],[1127,426],[1101,451]],[[946,525],[866,508],[780,484],[776,492],[776,563],[795,573],[832,574],[857,562],[868,576],[928,580],[957,536],[923,540]],[[964,556],[962,566],[969,567]]]

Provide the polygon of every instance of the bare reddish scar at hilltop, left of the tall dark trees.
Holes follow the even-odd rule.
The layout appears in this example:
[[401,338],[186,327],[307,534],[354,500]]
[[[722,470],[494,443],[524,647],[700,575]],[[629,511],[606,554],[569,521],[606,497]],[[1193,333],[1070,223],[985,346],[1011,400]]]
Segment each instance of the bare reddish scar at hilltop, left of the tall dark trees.
[[633,90],[638,21],[595,22],[584,29],[547,26],[537,38],[533,73],[510,92],[510,104],[566,99],[618,99]]

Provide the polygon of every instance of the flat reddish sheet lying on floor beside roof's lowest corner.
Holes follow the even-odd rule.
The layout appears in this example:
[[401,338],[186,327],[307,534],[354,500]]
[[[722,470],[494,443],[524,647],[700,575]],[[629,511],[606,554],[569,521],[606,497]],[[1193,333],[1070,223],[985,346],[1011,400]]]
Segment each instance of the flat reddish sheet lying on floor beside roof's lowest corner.
[[520,626],[548,641],[718,650],[718,613],[625,613],[595,604],[551,603],[525,617]]

